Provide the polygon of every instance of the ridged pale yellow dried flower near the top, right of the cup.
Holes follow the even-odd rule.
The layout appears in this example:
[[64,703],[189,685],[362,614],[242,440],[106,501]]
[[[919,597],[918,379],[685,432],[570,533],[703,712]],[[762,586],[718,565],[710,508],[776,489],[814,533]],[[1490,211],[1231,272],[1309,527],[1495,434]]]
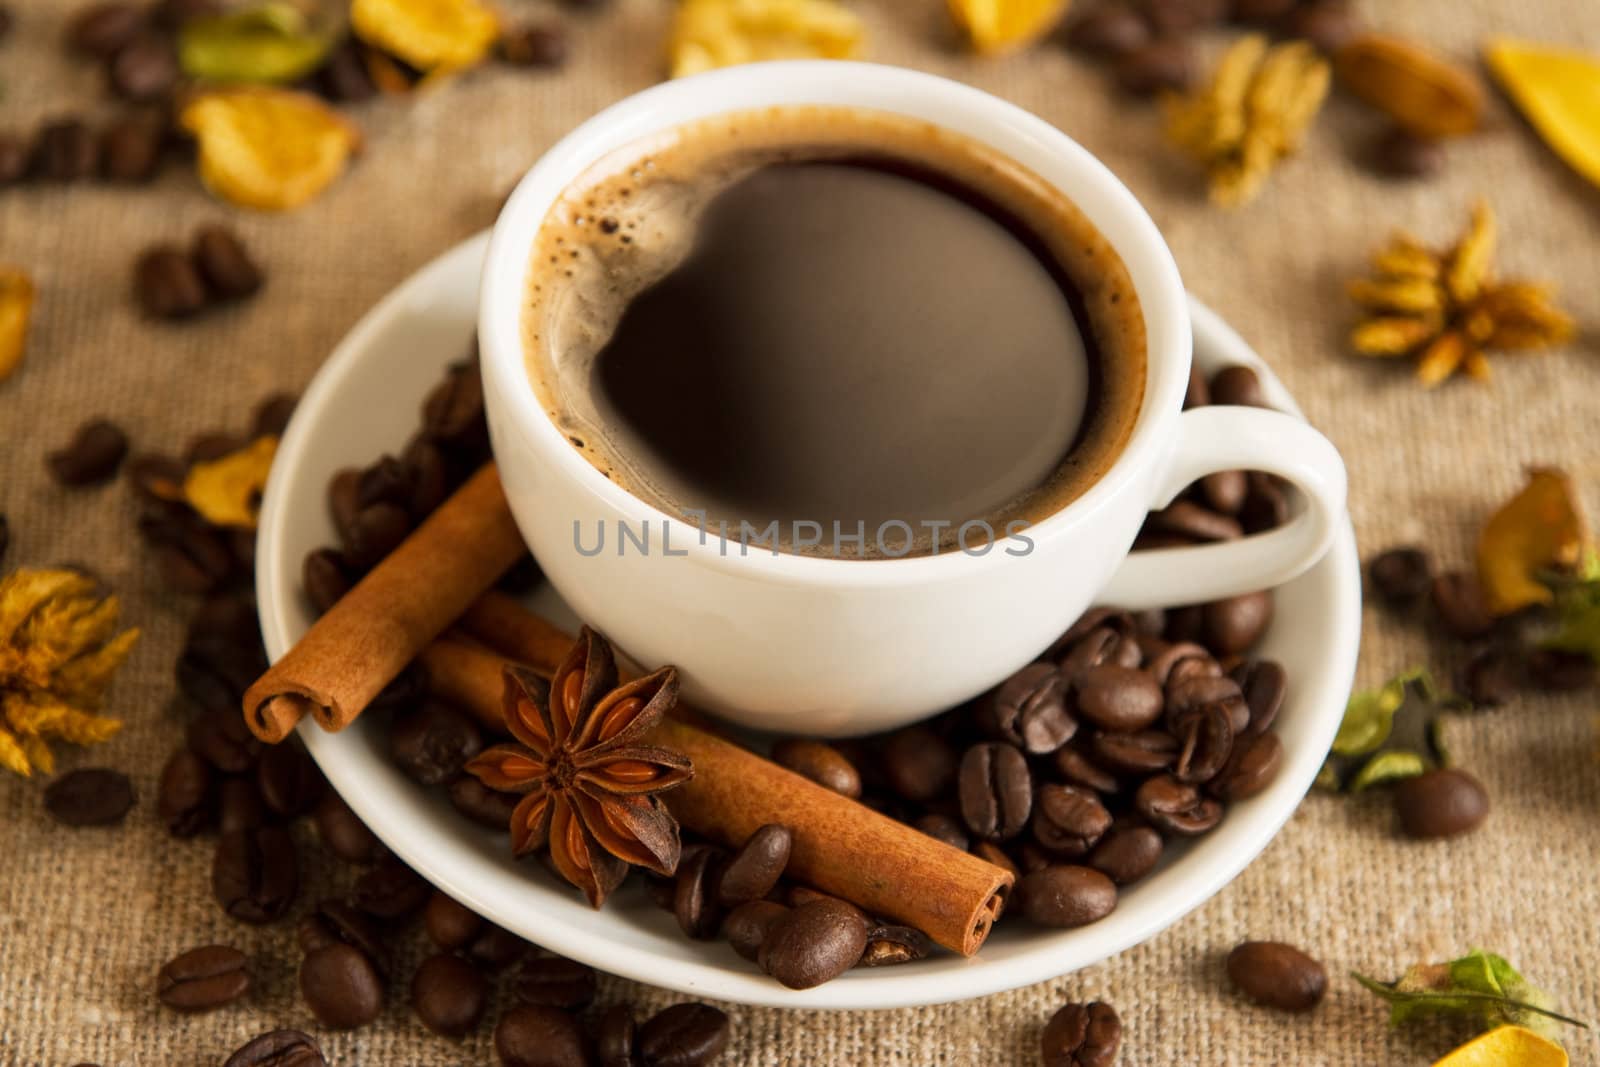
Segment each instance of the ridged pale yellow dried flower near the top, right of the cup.
[[1328,77],[1328,62],[1306,42],[1269,48],[1261,35],[1242,37],[1208,86],[1165,101],[1166,136],[1206,168],[1213,202],[1248,203],[1299,149]]

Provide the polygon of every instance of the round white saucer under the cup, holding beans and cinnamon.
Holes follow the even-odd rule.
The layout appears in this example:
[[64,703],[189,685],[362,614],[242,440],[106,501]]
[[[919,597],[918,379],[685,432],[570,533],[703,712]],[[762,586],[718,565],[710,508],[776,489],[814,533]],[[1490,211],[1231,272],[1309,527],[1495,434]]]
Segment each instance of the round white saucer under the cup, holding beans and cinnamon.
[[[323,496],[328,478],[339,467],[398,451],[416,429],[422,397],[472,339],[486,242],[482,234],[458,245],[390,293],[306,390],[261,512],[256,592],[272,659],[312,621],[299,593],[301,560],[334,541]],[[1275,405],[1296,410],[1238,334],[1200,304],[1192,314],[1202,368],[1248,363]],[[571,622],[547,587],[534,601]],[[541,865],[512,862],[504,833],[469,824],[440,792],[406,779],[366,723],[328,734],[307,720],[301,736],[328,781],[390,849],[462,904],[552,952],[696,997],[784,1008],[901,1008],[982,997],[1088,966],[1146,941],[1227,885],[1310,787],[1344,712],[1358,640],[1360,563],[1346,526],[1320,565],[1278,590],[1277,619],[1261,649],[1290,675],[1277,726],[1286,758],[1270,789],[1234,805],[1205,838],[1170,849],[1160,870],[1126,889],[1117,910],[1091,926],[1046,931],[1003,923],[971,960],[942,953],[858,969],[805,992],[781,987],[723,942],[686,939],[643,889],[630,888],[594,912]]]

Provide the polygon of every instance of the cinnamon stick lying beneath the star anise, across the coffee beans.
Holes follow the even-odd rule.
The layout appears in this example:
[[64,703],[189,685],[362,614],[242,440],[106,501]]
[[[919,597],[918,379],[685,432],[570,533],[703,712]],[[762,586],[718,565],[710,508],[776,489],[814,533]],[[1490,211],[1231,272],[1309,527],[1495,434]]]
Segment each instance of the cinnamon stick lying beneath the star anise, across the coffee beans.
[[[502,605],[504,606],[504,605]],[[520,609],[518,609],[520,611]],[[534,670],[550,670],[547,645],[560,633],[523,613]],[[499,630],[504,638],[510,629]],[[506,645],[496,641],[501,649]],[[565,649],[563,649],[565,651]],[[522,659],[522,656],[517,656]],[[544,664],[538,661],[544,661]],[[560,657],[557,657],[558,662]],[[506,659],[486,648],[442,638],[422,653],[432,691],[504,733]],[[962,955],[978,952],[998,917],[1013,875],[976,856],[822,789],[747,749],[675,718],[662,720],[651,744],[685,753],[694,777],[662,795],[685,827],[739,848],[768,822],[794,833],[789,873],[874,915],[915,926]]]

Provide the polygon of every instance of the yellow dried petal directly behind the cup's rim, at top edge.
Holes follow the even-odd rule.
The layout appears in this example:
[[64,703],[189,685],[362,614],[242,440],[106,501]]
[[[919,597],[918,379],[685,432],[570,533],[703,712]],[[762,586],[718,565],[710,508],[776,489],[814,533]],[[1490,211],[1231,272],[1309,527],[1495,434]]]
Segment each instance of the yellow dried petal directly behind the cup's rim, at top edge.
[[850,59],[866,32],[832,0],[683,0],[672,22],[672,77],[762,59]]

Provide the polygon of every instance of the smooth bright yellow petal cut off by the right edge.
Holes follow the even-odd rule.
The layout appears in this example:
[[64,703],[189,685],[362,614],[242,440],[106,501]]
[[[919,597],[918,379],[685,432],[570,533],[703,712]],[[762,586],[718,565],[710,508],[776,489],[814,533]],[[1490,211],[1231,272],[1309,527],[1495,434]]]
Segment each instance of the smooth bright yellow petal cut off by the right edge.
[[1600,186],[1600,59],[1507,37],[1490,38],[1483,58],[1544,142]]

